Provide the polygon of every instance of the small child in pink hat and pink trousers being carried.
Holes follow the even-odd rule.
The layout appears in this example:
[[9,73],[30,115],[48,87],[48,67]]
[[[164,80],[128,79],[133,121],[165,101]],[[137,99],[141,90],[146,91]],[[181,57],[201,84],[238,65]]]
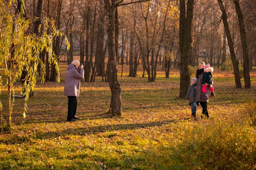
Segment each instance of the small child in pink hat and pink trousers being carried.
[[207,98],[207,91],[206,91],[206,88],[208,85],[210,85],[209,89],[211,91],[211,95],[210,97],[212,96],[215,96],[214,94],[214,89],[213,89],[213,86],[212,86],[212,71],[213,71],[213,68],[210,67],[210,64],[208,63],[207,65],[204,66],[204,73],[203,73],[203,78],[202,78],[202,92],[204,93],[204,97],[203,99]]

